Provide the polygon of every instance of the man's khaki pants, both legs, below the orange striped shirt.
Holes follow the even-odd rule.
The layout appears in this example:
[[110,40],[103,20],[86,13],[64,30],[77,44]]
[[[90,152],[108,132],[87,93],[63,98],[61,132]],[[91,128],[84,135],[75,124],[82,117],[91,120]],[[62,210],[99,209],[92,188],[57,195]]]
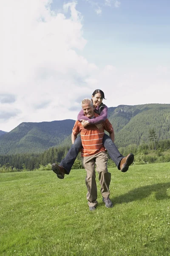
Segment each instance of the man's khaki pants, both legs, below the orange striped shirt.
[[87,172],[85,178],[85,184],[87,186],[87,199],[89,206],[95,206],[97,204],[97,186],[96,186],[96,171],[99,173],[99,182],[101,185],[102,197],[108,198],[110,195],[109,185],[111,182],[111,173],[108,172],[107,163],[108,156],[105,151],[91,155],[89,157],[82,157],[82,164]]

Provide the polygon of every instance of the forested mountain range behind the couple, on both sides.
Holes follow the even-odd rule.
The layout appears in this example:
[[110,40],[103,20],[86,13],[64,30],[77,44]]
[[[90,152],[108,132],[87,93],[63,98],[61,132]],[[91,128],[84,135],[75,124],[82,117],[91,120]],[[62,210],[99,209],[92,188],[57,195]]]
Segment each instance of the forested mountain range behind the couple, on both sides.
[[[158,140],[170,139],[170,104],[119,105],[108,108],[118,148],[147,143],[154,128]],[[52,146],[71,145],[74,120],[23,122],[0,136],[0,154],[38,153]]]

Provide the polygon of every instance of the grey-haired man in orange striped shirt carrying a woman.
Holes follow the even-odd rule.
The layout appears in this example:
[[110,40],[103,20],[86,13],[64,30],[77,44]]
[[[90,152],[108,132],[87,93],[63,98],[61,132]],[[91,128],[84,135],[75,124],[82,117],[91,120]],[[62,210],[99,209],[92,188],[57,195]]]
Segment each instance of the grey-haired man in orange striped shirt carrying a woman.
[[[87,116],[88,118],[94,118],[98,116],[98,114],[94,113],[93,102],[91,102],[90,99],[82,100],[82,109],[85,116]],[[102,130],[99,130],[96,125],[88,125],[84,128],[82,124],[77,120],[71,134],[72,143],[74,143],[79,133],[82,139],[81,157],[82,164],[87,172],[85,183],[88,189],[88,206],[91,211],[95,210],[97,205],[95,163],[96,171],[99,173],[99,182],[101,185],[103,202],[105,203],[106,207],[113,207],[113,204],[109,198],[111,173],[108,172],[108,156],[106,153],[106,149],[102,143],[103,136],[105,134],[104,129],[109,132],[111,140],[114,141],[113,127],[108,119],[103,122]]]

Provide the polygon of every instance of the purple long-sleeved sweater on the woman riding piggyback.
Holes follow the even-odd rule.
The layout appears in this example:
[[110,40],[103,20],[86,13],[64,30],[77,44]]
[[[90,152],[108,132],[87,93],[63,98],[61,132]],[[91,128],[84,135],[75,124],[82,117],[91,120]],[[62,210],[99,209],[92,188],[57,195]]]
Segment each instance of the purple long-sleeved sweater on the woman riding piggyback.
[[[99,110],[99,106],[96,108],[96,110]],[[81,110],[78,113],[77,120],[80,121],[80,119],[84,119],[84,120],[88,120],[89,124],[98,125],[98,124],[104,122],[107,117],[108,117],[108,107],[105,106],[105,108],[103,108],[100,115],[97,117],[94,117],[92,119],[85,116],[83,110]]]

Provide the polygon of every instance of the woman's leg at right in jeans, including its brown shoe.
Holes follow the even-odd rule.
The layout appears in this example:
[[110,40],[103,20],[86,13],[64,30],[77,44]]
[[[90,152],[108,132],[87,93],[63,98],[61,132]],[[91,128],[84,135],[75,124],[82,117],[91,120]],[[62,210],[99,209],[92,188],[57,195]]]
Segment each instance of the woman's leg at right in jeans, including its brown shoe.
[[107,149],[108,154],[116,164],[117,168],[121,170],[121,172],[127,172],[130,164],[133,163],[134,155],[130,153],[127,155],[127,157],[124,157],[122,154],[120,154],[119,150],[116,148],[116,145],[111,140],[111,137],[109,137],[107,134],[105,134],[103,137],[103,145]]

